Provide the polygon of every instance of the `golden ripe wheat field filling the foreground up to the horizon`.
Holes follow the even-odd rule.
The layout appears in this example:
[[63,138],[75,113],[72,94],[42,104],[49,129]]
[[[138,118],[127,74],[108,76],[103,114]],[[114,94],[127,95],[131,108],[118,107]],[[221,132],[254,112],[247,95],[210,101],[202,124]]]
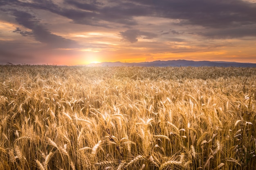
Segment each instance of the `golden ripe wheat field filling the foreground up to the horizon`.
[[256,68],[0,65],[0,169],[251,170]]

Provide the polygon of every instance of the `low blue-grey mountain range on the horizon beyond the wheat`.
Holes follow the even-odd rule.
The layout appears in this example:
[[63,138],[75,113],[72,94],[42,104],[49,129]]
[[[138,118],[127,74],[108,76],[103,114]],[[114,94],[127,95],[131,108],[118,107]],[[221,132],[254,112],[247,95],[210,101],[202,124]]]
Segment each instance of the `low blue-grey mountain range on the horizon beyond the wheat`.
[[90,63],[87,66],[141,66],[141,67],[200,67],[200,66],[216,66],[216,67],[256,67],[256,63],[238,63],[227,61],[189,61],[189,60],[169,60],[169,61],[152,61],[141,63],[122,63],[122,62],[102,62]]

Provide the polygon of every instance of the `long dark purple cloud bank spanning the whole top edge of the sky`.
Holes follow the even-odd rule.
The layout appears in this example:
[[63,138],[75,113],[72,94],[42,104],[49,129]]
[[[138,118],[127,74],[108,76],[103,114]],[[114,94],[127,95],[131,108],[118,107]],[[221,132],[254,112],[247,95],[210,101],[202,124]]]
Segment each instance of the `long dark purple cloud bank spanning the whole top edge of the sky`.
[[177,19],[180,26],[233,28],[256,24],[256,3],[242,0],[33,0],[7,1],[23,7],[43,9],[67,17],[77,24],[112,28],[111,23],[136,26],[134,17],[164,17]]

